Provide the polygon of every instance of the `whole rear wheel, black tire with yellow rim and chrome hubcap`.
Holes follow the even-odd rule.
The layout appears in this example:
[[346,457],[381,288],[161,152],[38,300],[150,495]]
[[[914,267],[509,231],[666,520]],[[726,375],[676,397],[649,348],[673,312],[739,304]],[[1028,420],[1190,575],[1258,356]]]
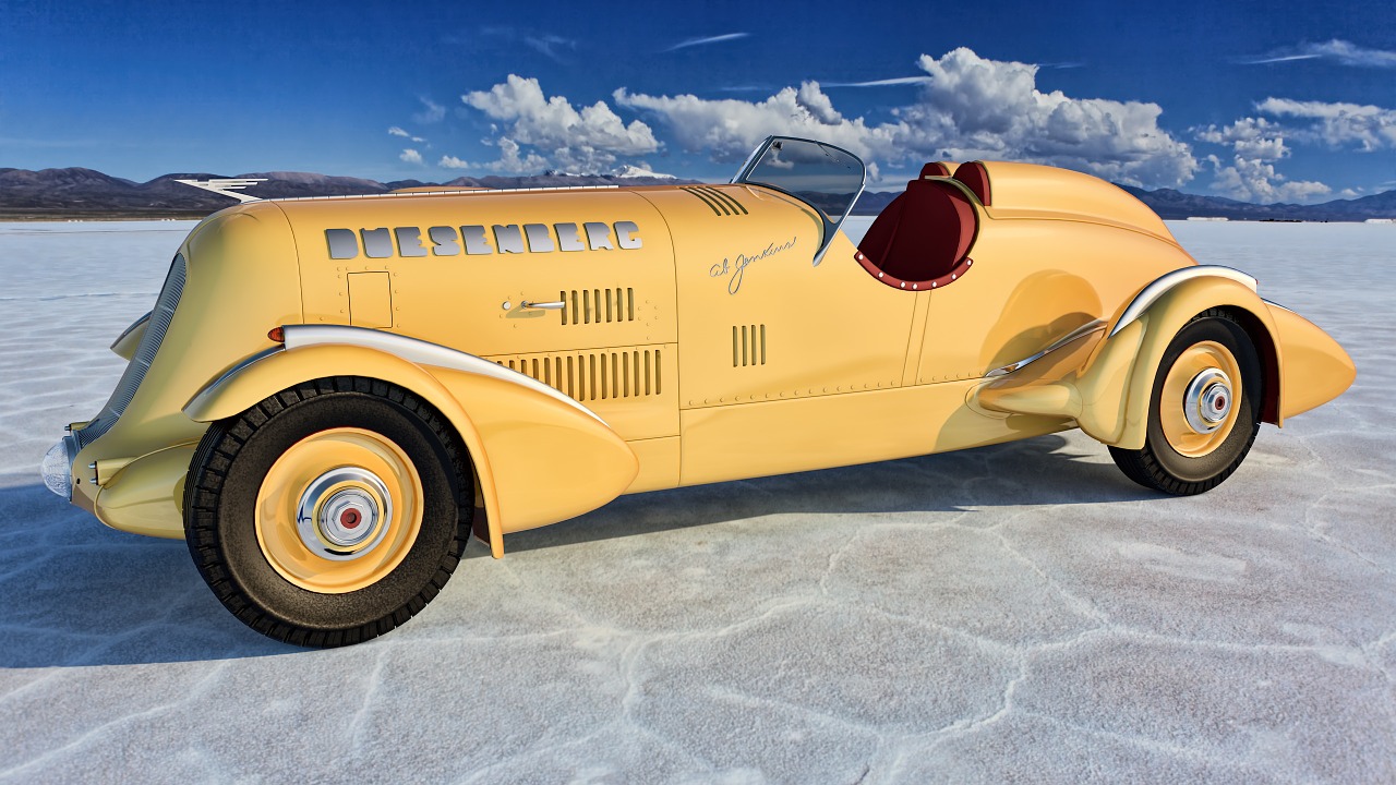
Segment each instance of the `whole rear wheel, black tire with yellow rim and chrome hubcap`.
[[1142,450],[1110,448],[1139,485],[1194,496],[1241,465],[1261,430],[1261,360],[1245,330],[1220,309],[1192,318],[1154,374]]

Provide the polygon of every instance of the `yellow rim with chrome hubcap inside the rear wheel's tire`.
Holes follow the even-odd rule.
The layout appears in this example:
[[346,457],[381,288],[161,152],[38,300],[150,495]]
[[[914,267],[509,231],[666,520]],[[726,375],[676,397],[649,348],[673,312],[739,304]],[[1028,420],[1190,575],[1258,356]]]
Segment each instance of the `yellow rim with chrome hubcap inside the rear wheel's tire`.
[[1241,366],[1216,341],[1184,349],[1163,380],[1159,426],[1180,455],[1201,458],[1226,441],[1241,411]]

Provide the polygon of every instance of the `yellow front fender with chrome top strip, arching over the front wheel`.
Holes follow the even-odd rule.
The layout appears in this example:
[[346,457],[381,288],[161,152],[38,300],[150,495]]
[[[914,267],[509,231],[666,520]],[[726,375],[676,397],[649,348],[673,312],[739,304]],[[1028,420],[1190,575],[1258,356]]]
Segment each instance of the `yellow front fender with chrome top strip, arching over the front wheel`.
[[630,486],[639,462],[581,404],[473,355],[356,327],[286,327],[285,348],[255,355],[201,390],[184,413],[214,422],[303,381],[364,376],[410,390],[451,422],[470,453],[490,550],[507,532],[595,510]]

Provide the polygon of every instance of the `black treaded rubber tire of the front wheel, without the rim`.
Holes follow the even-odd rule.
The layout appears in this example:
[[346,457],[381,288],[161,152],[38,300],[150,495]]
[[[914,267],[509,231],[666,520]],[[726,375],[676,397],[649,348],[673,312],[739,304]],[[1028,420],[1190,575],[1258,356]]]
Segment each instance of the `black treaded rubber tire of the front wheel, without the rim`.
[[[272,464],[329,429],[391,440],[422,487],[420,528],[401,562],[377,582],[339,594],[307,591],[278,573],[258,543],[254,511]],[[304,647],[366,641],[422,610],[459,563],[475,510],[468,461],[440,412],[401,387],[348,376],[307,381],[209,426],[184,489],[186,542],[214,595],[258,633]]]

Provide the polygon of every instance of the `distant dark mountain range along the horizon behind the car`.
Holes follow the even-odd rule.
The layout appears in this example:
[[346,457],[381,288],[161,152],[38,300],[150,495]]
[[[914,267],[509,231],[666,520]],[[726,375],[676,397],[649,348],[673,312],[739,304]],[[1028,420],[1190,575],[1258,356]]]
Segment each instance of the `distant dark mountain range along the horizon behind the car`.
[[[638,175],[638,176],[630,176]],[[147,183],[103,175],[92,169],[0,168],[0,219],[53,218],[202,218],[233,204],[229,197],[193,189],[176,180],[208,180],[209,173],[163,175]],[[456,177],[447,183],[394,180],[380,183],[363,177],[336,177],[309,172],[260,172],[237,177],[265,179],[247,193],[262,198],[311,196],[383,194],[396,189],[463,186],[484,189],[557,186],[651,186],[687,184],[697,180],[631,170],[623,175],[571,175],[547,172],[526,177]],[[1166,219],[1227,218],[1231,221],[1367,221],[1396,218],[1396,190],[1354,200],[1322,204],[1249,204],[1222,197],[1185,194],[1173,189],[1143,190],[1120,186]],[[895,191],[866,191],[854,215],[877,215]]]

